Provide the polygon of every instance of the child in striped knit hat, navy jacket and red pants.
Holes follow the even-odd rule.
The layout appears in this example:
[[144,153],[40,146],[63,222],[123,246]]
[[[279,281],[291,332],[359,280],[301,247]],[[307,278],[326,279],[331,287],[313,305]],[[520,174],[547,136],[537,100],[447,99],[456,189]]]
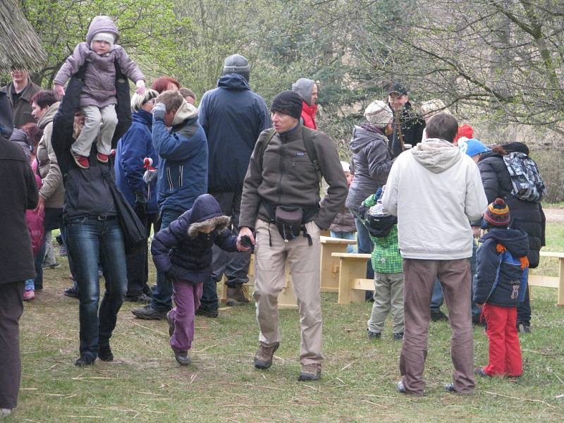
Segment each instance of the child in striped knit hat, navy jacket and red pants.
[[486,317],[489,364],[475,369],[479,376],[522,374],[517,305],[525,297],[529,240],[524,231],[508,228],[510,221],[509,207],[501,198],[489,204],[482,221],[489,231],[478,248],[474,300]]

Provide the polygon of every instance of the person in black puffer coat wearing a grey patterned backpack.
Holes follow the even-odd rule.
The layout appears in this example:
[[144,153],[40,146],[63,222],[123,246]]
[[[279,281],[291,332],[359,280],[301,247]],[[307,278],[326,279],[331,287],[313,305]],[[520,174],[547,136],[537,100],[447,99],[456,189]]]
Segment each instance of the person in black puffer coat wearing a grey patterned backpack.
[[[545,218],[539,202],[519,200],[511,192],[513,185],[503,156],[510,152],[520,151],[529,154],[529,149],[522,142],[512,142],[501,147],[494,147],[491,152],[482,153],[478,161],[478,168],[482,176],[482,183],[488,202],[502,198],[511,210],[512,221],[510,227],[522,229],[529,237],[527,259],[529,267],[539,266],[539,252],[545,245]],[[517,327],[521,332],[530,332],[531,306],[529,290],[525,293],[525,300],[517,307]]]

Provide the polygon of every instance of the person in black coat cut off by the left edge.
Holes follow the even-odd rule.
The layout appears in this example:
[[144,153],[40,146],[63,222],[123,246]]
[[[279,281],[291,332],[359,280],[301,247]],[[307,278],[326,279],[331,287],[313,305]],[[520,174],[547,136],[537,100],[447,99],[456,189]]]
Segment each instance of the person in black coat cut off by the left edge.
[[37,207],[35,176],[19,145],[0,137],[0,417],[10,414],[20,389],[23,287],[35,278],[25,210]]

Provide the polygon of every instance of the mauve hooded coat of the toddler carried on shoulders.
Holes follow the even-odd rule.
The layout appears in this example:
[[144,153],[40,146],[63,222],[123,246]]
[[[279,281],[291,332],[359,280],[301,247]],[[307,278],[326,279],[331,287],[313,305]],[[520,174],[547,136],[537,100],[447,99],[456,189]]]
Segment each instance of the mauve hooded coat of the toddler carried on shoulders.
[[116,37],[116,42],[118,41],[118,28],[111,18],[97,16],[92,19],[88,27],[86,42],[81,42],[75,47],[73,54],[68,56],[61,66],[54,83],[65,85],[67,80],[86,63],[84,86],[80,93],[80,106],[97,106],[102,109],[110,104],[118,103],[116,99],[116,62],[123,74],[133,82],[145,80],[145,76],[118,44],[114,44],[114,47],[103,56],[90,49],[92,38],[98,32],[111,32]]

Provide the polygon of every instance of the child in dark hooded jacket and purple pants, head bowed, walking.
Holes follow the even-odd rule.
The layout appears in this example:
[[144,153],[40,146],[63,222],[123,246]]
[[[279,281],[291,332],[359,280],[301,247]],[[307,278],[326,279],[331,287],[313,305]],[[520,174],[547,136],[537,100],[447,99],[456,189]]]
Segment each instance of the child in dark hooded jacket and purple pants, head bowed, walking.
[[155,266],[173,283],[176,307],[166,318],[171,348],[183,366],[191,362],[188,350],[194,338],[194,315],[200,307],[202,284],[212,277],[212,247],[215,244],[227,252],[238,251],[237,237],[227,228],[229,221],[212,195],[200,195],[192,209],[154,235],[151,244]]

